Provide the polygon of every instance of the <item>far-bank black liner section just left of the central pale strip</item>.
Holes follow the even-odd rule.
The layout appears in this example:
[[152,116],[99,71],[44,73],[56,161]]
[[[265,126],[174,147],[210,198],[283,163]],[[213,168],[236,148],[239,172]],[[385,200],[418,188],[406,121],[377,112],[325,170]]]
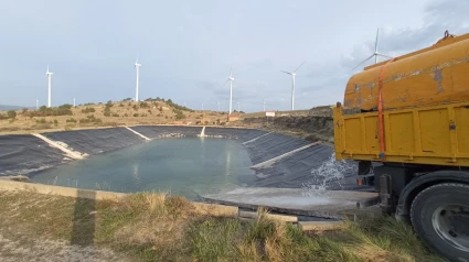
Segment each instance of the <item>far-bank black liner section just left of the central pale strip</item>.
[[132,130],[143,134],[149,139],[159,139],[171,135],[198,137],[202,132],[202,127],[184,127],[184,125],[136,125],[129,127]]

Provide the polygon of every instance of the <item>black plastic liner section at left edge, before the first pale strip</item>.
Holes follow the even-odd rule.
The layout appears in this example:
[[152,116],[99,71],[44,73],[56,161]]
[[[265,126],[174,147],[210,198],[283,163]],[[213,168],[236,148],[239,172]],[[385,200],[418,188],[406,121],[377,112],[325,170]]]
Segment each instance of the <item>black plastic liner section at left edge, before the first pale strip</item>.
[[66,160],[62,151],[33,135],[0,135],[0,176],[31,175]]

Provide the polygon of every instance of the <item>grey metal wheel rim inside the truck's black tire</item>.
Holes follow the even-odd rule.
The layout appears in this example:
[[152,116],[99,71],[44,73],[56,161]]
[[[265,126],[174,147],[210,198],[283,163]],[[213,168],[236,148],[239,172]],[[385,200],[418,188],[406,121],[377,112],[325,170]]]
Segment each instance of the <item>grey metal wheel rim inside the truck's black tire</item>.
[[469,207],[448,205],[437,208],[431,223],[439,237],[456,249],[469,252]]

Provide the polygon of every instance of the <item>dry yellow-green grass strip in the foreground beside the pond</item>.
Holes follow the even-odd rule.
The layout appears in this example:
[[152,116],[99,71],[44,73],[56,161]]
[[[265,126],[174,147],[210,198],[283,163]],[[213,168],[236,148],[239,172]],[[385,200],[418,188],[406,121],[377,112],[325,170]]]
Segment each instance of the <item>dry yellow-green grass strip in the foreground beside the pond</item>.
[[393,218],[303,233],[291,223],[205,217],[182,197],[94,201],[0,192],[0,232],[110,248],[132,261],[443,261]]

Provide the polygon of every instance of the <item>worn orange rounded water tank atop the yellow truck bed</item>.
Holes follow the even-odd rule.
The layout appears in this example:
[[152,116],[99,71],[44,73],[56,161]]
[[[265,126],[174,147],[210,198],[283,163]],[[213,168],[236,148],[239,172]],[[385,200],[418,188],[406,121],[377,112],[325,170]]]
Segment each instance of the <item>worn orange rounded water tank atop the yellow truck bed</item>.
[[[382,62],[353,75],[344,107],[376,110]],[[396,57],[383,75],[383,109],[469,100],[469,34],[445,37],[435,45]]]

